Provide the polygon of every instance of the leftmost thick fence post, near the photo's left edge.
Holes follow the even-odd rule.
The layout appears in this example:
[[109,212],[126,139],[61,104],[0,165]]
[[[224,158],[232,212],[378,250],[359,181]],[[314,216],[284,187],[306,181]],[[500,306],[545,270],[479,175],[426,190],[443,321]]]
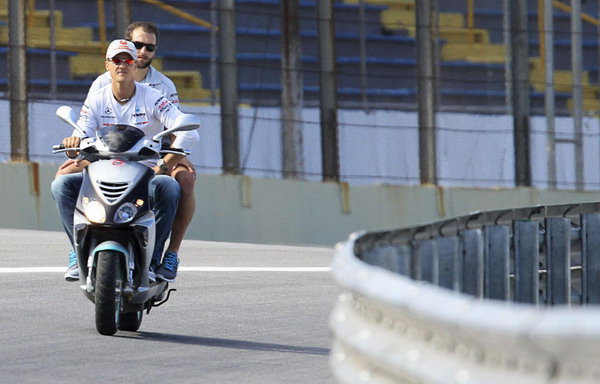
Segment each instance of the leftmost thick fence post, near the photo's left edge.
[[25,2],[8,3],[8,92],[12,161],[29,160]]

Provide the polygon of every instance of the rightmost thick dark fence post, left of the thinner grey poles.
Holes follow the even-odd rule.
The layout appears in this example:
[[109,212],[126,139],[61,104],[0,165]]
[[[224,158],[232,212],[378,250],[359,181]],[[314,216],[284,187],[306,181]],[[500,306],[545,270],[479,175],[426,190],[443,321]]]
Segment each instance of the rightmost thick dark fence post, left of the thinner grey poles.
[[528,0],[511,0],[515,184],[531,186]]

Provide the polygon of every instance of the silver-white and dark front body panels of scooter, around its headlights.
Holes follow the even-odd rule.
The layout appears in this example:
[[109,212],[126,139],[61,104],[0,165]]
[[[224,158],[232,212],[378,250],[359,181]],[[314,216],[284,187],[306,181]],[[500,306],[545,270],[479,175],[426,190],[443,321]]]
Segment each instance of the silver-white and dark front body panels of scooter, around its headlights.
[[[166,284],[151,284],[148,269],[156,239],[154,213],[149,206],[149,184],[152,169],[138,162],[121,159],[100,160],[83,172],[74,215],[74,240],[80,265],[80,287],[94,301],[95,268],[98,253],[111,250],[121,255],[127,282],[124,311],[128,305],[143,304],[166,289]],[[106,211],[106,221],[91,222],[83,201],[98,201]],[[128,223],[116,223],[116,212],[122,204],[139,204],[140,213]]]

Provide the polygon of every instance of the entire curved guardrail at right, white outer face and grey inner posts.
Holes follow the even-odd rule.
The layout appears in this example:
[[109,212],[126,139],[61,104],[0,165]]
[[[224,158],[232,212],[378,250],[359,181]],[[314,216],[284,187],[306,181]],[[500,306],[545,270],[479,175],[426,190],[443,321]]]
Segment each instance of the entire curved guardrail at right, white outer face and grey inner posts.
[[600,382],[600,204],[475,212],[336,248],[341,383]]

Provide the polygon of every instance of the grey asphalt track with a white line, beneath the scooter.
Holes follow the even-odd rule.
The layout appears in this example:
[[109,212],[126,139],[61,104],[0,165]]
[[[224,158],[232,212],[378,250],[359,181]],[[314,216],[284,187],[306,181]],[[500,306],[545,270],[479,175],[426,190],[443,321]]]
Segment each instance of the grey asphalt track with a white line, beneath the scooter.
[[177,289],[101,336],[61,232],[0,229],[1,383],[334,383],[332,248],[184,241]]

